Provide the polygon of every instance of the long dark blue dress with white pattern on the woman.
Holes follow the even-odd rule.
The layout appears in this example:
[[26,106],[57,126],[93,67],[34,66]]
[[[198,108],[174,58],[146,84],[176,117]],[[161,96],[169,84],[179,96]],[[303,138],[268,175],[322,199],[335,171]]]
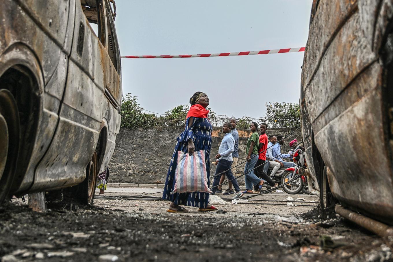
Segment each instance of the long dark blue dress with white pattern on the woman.
[[206,160],[206,171],[208,173],[208,186],[210,186],[210,148],[211,131],[213,130],[208,118],[193,117],[193,124],[188,127],[188,121],[193,116],[187,118],[184,132],[177,137],[177,143],[173,151],[171,163],[165,181],[162,199],[172,201],[175,205],[186,205],[192,207],[206,208],[209,202],[209,193],[191,192],[171,194],[176,182],[175,170],[177,166],[177,151],[188,152],[188,140],[193,138],[195,151],[204,150]]

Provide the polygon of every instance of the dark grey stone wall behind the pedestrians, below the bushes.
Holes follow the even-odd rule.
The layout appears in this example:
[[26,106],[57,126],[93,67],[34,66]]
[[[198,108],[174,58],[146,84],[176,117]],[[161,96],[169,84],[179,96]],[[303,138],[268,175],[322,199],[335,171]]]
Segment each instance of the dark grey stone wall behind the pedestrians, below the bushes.
[[[184,130],[183,127],[149,127],[128,129],[121,128],[116,138],[116,148],[109,164],[110,183],[165,183],[169,161],[176,144],[176,137]],[[239,135],[239,162],[246,158],[246,144],[250,131],[238,129]],[[268,129],[270,134],[287,135],[288,129]],[[218,153],[223,134],[219,127],[212,132],[212,148],[210,162]],[[286,138],[283,150],[289,148],[288,142],[297,138],[301,140],[300,129]],[[244,170],[244,164],[237,168],[237,175]],[[211,165],[210,173],[215,172],[215,165]],[[244,179],[239,179],[244,183]]]

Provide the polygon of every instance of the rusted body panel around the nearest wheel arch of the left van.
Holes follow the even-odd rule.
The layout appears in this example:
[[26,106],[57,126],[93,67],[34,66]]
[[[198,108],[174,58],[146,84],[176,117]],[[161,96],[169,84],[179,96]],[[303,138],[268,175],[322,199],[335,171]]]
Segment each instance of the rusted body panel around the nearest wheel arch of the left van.
[[[32,8],[34,4],[45,5],[46,3],[43,1],[7,1],[0,4],[0,19],[5,25],[0,29],[0,63],[2,64],[0,74],[7,69],[7,66],[12,66],[15,63],[26,66],[35,75],[39,85],[39,89],[32,90],[32,92],[37,92],[37,96],[41,97],[40,116],[35,120],[39,122],[39,128],[36,131],[35,141],[31,141],[33,149],[29,156],[30,159],[24,159],[25,162],[28,162],[26,170],[18,170],[18,174],[24,175],[19,190],[26,189],[31,185],[35,165],[44,154],[55,130],[60,100],[50,98],[53,98],[52,95],[55,94],[61,98],[64,81],[62,83],[52,81],[57,84],[53,87],[50,81],[54,79],[54,72],[59,67],[64,71],[63,64],[66,60],[64,52],[66,50],[62,50],[64,48],[62,45],[68,40],[66,37],[66,34],[69,33],[66,30],[68,18],[74,14],[70,8],[75,8],[73,0],[64,1],[60,5],[62,16],[53,18],[53,14],[50,13],[37,14],[35,11],[39,9]],[[54,9],[48,8],[53,13]],[[42,15],[42,17],[38,15]],[[48,22],[52,19],[51,25],[41,23],[39,18]],[[62,31],[53,30],[53,27],[59,27],[59,24],[62,25]],[[59,61],[62,62],[60,66]],[[48,93],[51,94],[50,98],[44,99]],[[44,103],[44,101],[51,102]],[[14,188],[14,190],[16,189]]]

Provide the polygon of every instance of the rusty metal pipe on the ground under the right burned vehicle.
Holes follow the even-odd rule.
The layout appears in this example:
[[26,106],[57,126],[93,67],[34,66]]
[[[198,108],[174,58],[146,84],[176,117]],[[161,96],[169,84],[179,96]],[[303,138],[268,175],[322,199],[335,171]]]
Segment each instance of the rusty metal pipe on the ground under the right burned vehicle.
[[393,236],[393,227],[389,227],[384,223],[378,222],[371,218],[367,218],[366,216],[353,212],[347,208],[343,208],[342,205],[339,204],[336,205],[334,210],[338,214],[340,214],[340,216],[343,216],[344,218],[351,220],[352,222],[360,225],[361,227],[364,227],[368,231],[371,231],[377,234],[378,236],[381,237]]

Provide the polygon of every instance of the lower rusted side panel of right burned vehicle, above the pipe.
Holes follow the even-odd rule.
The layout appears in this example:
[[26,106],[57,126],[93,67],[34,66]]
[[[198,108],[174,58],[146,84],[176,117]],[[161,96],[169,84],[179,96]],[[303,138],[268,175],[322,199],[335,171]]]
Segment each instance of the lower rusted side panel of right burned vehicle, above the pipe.
[[383,139],[381,102],[380,89],[367,93],[316,134],[315,143],[332,170],[328,179],[335,197],[393,218],[392,176]]

